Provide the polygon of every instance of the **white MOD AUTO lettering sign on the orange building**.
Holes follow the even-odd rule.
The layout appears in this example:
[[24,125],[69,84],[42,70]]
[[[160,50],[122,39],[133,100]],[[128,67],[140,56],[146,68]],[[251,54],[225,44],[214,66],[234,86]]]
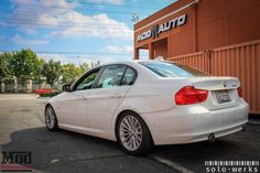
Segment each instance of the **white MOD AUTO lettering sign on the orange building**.
[[171,21],[167,21],[163,24],[156,24],[151,30],[148,30],[141,34],[138,35],[138,42],[143,41],[149,37],[158,37],[160,33],[172,30],[176,26],[183,25],[186,23],[187,14],[183,14],[181,17],[177,17]]

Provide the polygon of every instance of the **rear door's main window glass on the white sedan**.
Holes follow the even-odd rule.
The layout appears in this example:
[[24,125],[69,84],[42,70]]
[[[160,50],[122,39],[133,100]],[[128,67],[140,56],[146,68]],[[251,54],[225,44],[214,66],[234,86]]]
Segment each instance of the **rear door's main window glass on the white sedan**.
[[122,79],[123,72],[126,69],[124,65],[110,65],[107,66],[100,79],[98,82],[97,88],[110,88],[119,86]]

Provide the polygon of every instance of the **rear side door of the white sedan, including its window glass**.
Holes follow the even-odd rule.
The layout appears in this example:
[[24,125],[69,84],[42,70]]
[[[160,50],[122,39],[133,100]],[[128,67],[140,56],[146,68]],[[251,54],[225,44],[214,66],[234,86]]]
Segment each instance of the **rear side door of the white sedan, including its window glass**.
[[126,65],[116,64],[104,67],[96,83],[96,88],[89,90],[87,96],[88,126],[90,128],[110,128],[112,115],[136,77],[137,72]]

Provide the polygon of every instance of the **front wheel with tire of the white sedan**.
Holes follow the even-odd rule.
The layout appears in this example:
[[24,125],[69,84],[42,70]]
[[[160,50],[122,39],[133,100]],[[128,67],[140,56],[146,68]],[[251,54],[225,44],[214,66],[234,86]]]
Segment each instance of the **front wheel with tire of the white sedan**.
[[58,130],[57,117],[51,105],[47,105],[44,112],[46,128],[51,131]]

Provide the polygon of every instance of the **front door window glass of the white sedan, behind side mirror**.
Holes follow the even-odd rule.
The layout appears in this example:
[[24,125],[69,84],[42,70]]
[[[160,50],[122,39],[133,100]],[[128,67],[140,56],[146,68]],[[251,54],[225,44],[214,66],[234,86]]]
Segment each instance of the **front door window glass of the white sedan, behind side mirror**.
[[95,71],[93,73],[90,73],[89,75],[86,76],[86,78],[84,78],[75,88],[75,90],[84,90],[84,89],[90,89],[95,78],[97,77],[98,71]]

